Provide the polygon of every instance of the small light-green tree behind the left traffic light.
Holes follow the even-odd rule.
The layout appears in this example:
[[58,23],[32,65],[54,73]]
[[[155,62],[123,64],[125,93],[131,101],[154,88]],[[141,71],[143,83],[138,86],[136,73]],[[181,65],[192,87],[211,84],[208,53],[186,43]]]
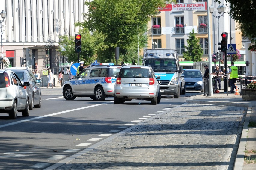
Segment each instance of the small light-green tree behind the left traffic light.
[[[97,58],[97,53],[105,50],[108,46],[104,44],[105,36],[98,31],[94,31],[90,34],[90,31],[86,28],[80,29],[79,34],[81,34],[82,41],[82,51],[79,53],[79,61],[84,61],[84,65],[90,65]],[[77,62],[78,54],[75,53],[75,37],[73,36],[61,36],[59,45],[63,49],[58,51],[61,55],[68,57],[69,61]]]

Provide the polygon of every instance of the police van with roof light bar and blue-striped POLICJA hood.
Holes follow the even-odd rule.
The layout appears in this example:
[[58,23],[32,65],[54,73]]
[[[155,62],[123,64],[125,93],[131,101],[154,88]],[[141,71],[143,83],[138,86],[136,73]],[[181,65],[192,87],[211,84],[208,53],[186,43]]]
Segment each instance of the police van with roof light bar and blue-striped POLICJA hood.
[[183,68],[179,65],[176,50],[146,49],[144,50],[142,65],[150,65],[156,76],[160,76],[161,95],[173,95],[179,98],[186,94]]

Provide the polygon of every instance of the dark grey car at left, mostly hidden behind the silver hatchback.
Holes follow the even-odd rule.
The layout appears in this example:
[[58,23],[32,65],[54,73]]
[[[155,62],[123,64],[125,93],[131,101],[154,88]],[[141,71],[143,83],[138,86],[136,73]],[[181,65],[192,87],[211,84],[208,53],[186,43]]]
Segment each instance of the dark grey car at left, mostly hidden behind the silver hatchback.
[[[22,68],[22,69],[21,69]],[[19,67],[18,69],[8,68],[16,73],[16,75],[20,78],[21,82],[29,82],[29,86],[24,87],[29,95],[29,109],[33,110],[34,106],[40,108],[42,93],[41,88],[38,86],[41,80],[37,80],[35,76],[28,68]]]

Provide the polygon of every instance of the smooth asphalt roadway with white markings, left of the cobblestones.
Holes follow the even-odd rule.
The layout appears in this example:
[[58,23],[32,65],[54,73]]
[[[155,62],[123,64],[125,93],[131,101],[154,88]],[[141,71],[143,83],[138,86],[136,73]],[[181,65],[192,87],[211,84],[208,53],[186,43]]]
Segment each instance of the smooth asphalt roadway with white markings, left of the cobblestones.
[[29,117],[1,114],[0,169],[44,169],[195,94],[163,96],[157,105],[143,100],[115,105],[113,97],[67,101],[61,88],[42,89],[42,107],[30,110]]

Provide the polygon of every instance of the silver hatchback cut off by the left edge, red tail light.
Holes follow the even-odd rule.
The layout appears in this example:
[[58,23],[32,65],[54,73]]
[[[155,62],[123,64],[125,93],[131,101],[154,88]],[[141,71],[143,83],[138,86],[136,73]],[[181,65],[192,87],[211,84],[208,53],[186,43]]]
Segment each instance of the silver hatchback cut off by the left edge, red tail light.
[[22,116],[29,116],[26,86],[29,82],[22,84],[13,71],[0,70],[0,113],[8,113],[11,119],[16,119],[17,111],[21,111]]

